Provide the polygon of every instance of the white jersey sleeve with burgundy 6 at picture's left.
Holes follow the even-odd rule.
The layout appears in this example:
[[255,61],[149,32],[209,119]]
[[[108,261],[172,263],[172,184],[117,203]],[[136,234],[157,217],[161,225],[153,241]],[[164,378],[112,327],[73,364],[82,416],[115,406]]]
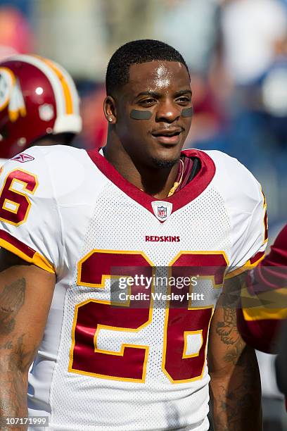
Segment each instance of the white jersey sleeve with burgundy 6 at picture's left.
[[63,254],[62,230],[53,183],[40,147],[1,168],[0,246],[51,273]]

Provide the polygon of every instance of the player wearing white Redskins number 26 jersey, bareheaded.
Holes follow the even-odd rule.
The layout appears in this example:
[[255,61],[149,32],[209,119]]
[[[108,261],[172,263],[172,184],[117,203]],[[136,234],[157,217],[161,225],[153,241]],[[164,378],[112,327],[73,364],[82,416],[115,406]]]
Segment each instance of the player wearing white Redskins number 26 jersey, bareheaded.
[[172,46],[121,46],[106,91],[103,150],[34,146],[1,173],[2,416],[206,431],[210,382],[215,430],[259,431],[255,352],[221,292],[264,252],[260,185],[181,151],[193,108]]

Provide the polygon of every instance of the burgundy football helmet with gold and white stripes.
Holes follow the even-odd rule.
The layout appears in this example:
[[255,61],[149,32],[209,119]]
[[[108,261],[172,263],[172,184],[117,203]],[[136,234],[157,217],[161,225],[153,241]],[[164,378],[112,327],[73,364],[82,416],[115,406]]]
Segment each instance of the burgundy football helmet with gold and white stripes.
[[51,144],[69,144],[81,130],[79,96],[65,69],[30,55],[0,63],[1,158],[41,144],[47,137]]

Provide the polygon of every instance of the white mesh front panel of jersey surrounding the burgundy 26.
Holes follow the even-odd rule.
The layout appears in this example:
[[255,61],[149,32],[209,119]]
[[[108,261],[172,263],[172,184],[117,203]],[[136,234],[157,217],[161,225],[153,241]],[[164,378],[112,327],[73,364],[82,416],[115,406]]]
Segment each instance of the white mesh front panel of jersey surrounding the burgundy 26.
[[[154,266],[166,267],[180,251],[222,251],[229,254],[229,216],[222,196],[212,187],[160,223],[108,182],[96,200],[79,259],[93,249],[143,251]],[[84,233],[84,232],[83,232]],[[178,235],[180,242],[145,242],[146,235]],[[204,289],[204,291],[203,291]],[[220,289],[201,286],[203,306],[214,305]],[[122,382],[69,373],[75,306],[90,299],[108,300],[105,289],[77,286],[65,298],[62,332],[50,392],[51,430],[208,430],[208,372],[192,382],[172,384],[162,371],[165,308],[154,304],[152,322],[139,332],[101,330],[98,346],[119,351],[122,343],[149,346],[144,383]],[[193,292],[196,292],[193,290]]]

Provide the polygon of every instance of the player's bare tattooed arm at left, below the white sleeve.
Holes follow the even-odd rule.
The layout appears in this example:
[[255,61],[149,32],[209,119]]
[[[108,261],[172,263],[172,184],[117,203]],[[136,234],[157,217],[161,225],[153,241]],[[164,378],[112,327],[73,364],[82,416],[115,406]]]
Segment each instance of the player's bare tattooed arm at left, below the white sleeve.
[[[2,421],[8,417],[27,417],[27,373],[42,339],[54,285],[54,274],[0,249]],[[10,430],[10,427],[1,423],[1,430]]]

